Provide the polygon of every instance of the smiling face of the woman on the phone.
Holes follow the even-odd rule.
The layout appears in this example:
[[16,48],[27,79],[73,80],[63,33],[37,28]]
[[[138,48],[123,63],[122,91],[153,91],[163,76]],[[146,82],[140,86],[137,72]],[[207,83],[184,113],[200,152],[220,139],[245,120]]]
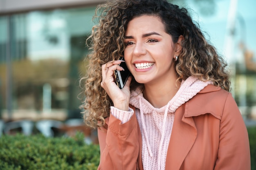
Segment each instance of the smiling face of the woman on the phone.
[[138,83],[165,83],[175,78],[175,43],[157,16],[142,15],[128,23],[124,58]]

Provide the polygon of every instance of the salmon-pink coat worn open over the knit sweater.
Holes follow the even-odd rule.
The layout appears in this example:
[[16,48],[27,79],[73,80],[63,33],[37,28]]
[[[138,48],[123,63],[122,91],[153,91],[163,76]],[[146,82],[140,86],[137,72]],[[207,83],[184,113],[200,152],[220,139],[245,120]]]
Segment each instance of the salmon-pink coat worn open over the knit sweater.
[[[98,129],[98,170],[143,170],[135,114],[121,124],[110,114]],[[231,93],[208,85],[175,112],[166,170],[250,170],[248,133]]]

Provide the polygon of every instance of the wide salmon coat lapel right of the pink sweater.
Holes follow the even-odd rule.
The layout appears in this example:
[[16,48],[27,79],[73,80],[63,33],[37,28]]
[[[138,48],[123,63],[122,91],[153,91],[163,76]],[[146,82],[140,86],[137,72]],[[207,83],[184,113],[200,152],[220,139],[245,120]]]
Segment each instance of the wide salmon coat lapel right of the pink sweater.
[[179,170],[197,137],[193,117],[184,117],[186,103],[175,112],[173,129],[167,150],[166,170]]

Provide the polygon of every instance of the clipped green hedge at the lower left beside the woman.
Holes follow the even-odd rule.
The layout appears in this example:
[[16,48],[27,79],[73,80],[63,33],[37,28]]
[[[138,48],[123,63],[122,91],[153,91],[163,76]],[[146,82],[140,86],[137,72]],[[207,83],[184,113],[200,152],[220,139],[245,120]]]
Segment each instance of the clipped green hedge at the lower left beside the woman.
[[0,170],[97,170],[99,145],[75,137],[17,134],[0,137]]

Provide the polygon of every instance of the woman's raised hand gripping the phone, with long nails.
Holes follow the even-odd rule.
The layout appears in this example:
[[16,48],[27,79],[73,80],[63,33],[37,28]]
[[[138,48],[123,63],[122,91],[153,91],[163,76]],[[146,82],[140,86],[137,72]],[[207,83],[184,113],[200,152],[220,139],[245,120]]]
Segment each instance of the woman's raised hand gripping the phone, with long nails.
[[114,71],[123,70],[119,64],[124,61],[114,60],[109,61],[101,66],[102,70],[102,81],[101,87],[106,90],[108,96],[114,103],[114,107],[120,110],[128,111],[129,100],[130,100],[130,83],[132,77],[130,76],[124,85],[124,88],[119,89],[115,83]]

